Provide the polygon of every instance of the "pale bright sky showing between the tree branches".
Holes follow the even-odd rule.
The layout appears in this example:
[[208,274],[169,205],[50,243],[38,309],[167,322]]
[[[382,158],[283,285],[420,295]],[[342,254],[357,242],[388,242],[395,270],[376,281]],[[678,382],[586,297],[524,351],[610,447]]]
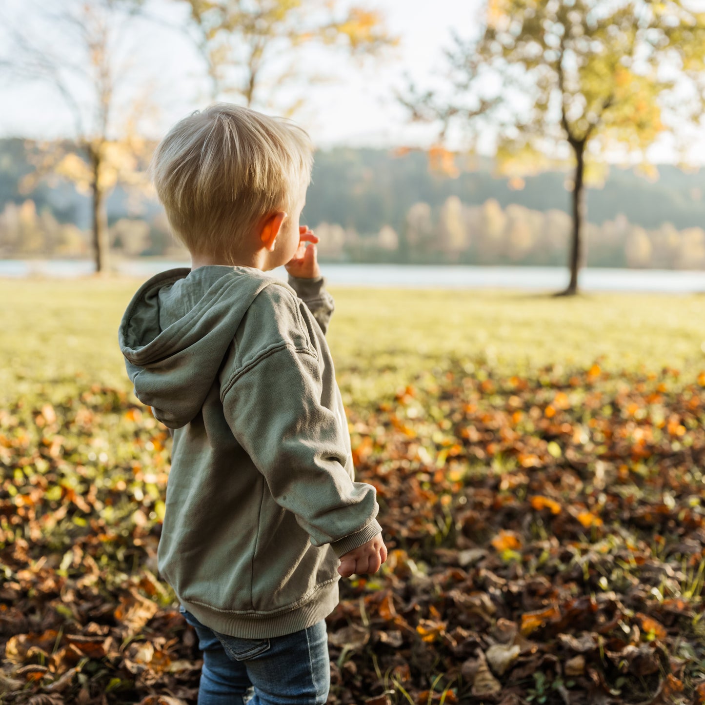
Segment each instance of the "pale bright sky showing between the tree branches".
[[[79,0],[1,0],[0,27],[15,23],[32,28],[37,37],[71,56],[66,37],[51,25],[32,26],[32,7],[56,9]],[[309,0],[305,0],[309,1]],[[305,127],[318,147],[336,145],[428,147],[436,128],[412,124],[395,97],[411,78],[419,87],[442,85],[446,64],[443,51],[451,46],[451,30],[472,37],[482,0],[338,0],[380,11],[398,47],[378,61],[353,61],[341,53],[307,49],[302,61],[315,73],[323,66],[335,80],[312,84],[296,80],[290,97],[305,97],[294,118]],[[149,94],[159,111],[141,129],[159,138],[180,118],[210,102],[204,63],[193,42],[173,27],[183,25],[185,6],[174,0],[149,0],[149,12],[159,22],[145,20],[130,36],[126,58],[132,66],[123,76],[125,94]],[[167,26],[165,26],[167,25]],[[168,26],[168,25],[171,25]],[[283,56],[282,65],[288,57]],[[46,83],[13,80],[0,69],[0,136],[53,138],[71,135],[71,114],[59,94]],[[275,110],[276,111],[276,110]],[[482,145],[484,144],[484,148]],[[481,140],[480,151],[491,154],[491,135]],[[673,161],[668,140],[651,150],[654,161]],[[705,135],[693,143],[690,161],[705,164]]]

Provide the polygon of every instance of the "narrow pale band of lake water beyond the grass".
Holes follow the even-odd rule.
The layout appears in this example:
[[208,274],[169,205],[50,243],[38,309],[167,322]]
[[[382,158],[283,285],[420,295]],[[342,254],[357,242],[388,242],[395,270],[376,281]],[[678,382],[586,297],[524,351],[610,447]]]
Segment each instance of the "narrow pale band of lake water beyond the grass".
[[[189,266],[186,262],[134,260],[118,264],[119,274],[148,278],[165,269]],[[389,286],[443,289],[561,290],[568,285],[568,270],[560,267],[414,266],[401,264],[324,264],[331,285]],[[73,278],[92,274],[84,260],[0,260],[0,277],[47,276]],[[283,267],[273,274],[286,279]],[[580,286],[585,291],[647,291],[705,293],[705,272],[656,269],[583,269]]]

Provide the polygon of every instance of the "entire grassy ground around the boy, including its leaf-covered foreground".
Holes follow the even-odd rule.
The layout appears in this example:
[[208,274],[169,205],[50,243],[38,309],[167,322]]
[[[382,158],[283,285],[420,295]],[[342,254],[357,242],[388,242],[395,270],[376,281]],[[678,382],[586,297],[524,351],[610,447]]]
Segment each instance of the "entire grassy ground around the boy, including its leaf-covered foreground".
[[[0,281],[0,703],[184,705],[139,282]],[[705,703],[705,298],[333,290],[389,559],[341,583],[329,705]]]

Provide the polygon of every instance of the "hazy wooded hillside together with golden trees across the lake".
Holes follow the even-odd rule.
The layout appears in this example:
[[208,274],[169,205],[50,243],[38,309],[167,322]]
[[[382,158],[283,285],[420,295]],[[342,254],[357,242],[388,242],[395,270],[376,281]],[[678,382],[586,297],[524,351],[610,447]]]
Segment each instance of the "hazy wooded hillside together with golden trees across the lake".
[[[28,149],[35,146],[0,140],[0,257],[88,256],[84,196],[60,181],[21,192]],[[604,188],[589,191],[588,264],[705,269],[705,176],[659,171],[651,182],[613,168]],[[419,152],[338,148],[316,155],[302,222],[317,228],[324,259],[562,266],[568,204],[559,172],[517,184],[485,164],[447,178]],[[117,252],[183,252],[153,200],[118,189],[108,212]]]

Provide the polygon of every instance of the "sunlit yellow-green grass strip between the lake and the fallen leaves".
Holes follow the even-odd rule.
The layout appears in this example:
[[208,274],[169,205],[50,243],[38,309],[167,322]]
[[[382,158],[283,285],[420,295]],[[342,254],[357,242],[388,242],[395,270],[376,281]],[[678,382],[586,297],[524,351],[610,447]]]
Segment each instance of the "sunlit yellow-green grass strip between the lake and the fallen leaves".
[[[0,398],[61,399],[80,386],[128,389],[117,345],[140,281],[4,280]],[[702,295],[583,295],[333,288],[329,342],[346,403],[364,403],[448,357],[498,372],[537,367],[692,372],[705,367]]]

